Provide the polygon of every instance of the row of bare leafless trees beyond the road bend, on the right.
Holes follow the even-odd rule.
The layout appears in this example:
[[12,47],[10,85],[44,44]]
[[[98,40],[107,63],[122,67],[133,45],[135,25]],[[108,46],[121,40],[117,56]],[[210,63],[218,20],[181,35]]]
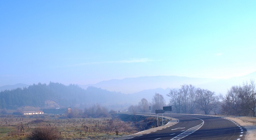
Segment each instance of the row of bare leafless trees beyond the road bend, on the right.
[[256,89],[254,80],[242,85],[232,86],[227,94],[216,95],[215,92],[196,88],[193,85],[181,85],[179,89],[171,89],[167,94],[169,103],[165,103],[164,97],[155,93],[152,103],[142,98],[138,105],[131,105],[130,112],[151,113],[162,106],[172,106],[174,113],[186,114],[224,114],[235,116],[255,116]]

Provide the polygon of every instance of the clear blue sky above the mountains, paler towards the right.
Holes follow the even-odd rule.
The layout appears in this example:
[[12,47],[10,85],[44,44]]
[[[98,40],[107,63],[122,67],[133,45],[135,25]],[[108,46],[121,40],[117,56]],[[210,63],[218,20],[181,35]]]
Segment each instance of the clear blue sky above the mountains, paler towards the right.
[[1,0],[0,86],[256,71],[255,0]]

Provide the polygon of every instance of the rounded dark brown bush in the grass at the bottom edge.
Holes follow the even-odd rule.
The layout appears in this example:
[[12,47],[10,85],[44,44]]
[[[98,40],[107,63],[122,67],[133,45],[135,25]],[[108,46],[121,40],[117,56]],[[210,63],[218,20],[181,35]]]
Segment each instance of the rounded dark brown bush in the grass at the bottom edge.
[[58,140],[61,139],[60,132],[56,127],[37,127],[31,134],[29,140]]

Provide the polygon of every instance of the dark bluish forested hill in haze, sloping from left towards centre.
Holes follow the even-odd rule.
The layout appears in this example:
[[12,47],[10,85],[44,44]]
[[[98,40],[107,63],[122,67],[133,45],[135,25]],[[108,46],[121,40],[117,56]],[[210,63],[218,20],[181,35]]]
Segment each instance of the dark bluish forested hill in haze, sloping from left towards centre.
[[[59,106],[77,106],[101,103],[104,105],[125,103],[125,94],[109,92],[96,87],[86,90],[78,85],[68,86],[50,82],[33,84],[28,88],[17,88],[0,92],[0,108],[16,109],[21,106],[47,107],[47,101],[54,101]],[[126,100],[126,101],[125,101]]]

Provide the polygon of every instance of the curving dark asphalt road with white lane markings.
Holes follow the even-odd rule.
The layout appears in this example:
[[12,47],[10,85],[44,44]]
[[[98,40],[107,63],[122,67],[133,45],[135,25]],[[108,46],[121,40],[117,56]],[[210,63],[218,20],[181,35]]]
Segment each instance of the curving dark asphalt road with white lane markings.
[[172,114],[178,123],[130,140],[244,140],[246,130],[222,117]]

